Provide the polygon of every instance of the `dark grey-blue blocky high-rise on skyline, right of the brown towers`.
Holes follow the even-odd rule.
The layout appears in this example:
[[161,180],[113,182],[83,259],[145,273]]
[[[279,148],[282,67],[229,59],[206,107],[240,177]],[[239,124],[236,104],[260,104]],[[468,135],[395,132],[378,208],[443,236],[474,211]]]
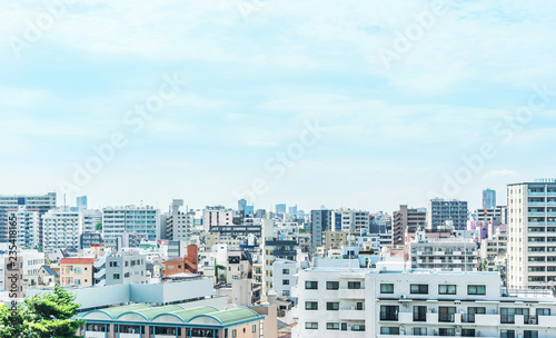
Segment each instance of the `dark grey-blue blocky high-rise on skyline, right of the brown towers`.
[[449,225],[454,230],[467,229],[467,202],[460,200],[431,199],[427,208],[427,228],[441,229]]

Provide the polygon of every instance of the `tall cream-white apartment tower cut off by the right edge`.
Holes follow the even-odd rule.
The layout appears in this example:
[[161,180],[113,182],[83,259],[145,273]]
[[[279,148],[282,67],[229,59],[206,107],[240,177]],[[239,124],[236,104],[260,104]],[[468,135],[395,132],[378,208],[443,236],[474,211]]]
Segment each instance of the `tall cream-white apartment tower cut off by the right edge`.
[[556,180],[508,185],[508,287],[556,281]]

